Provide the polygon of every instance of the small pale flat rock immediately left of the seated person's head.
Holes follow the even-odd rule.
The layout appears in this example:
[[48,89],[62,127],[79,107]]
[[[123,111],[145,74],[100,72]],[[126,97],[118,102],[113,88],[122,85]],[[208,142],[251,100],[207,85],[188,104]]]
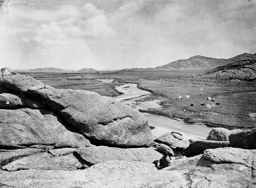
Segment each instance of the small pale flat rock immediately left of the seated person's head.
[[162,157],[162,154],[155,150],[153,147],[149,148],[127,148],[133,152],[139,161],[153,163]]

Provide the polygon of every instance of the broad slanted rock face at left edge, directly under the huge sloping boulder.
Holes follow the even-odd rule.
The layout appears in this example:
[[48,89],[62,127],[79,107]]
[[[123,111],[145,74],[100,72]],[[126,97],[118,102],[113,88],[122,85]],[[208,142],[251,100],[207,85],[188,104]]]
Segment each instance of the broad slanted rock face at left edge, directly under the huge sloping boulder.
[[0,125],[0,135],[5,135],[0,137],[0,147],[54,145],[59,141],[71,142],[73,147],[90,144],[83,135],[67,130],[56,115],[47,110],[0,109]]

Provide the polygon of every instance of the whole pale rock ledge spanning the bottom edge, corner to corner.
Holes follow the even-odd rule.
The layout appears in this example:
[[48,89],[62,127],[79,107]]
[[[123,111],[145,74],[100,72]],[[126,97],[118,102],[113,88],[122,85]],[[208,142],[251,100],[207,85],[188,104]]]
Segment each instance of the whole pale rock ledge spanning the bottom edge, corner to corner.
[[0,171],[0,185],[19,187],[227,187],[254,186],[256,150],[207,149],[173,160],[157,170],[152,163],[113,160],[83,170]]

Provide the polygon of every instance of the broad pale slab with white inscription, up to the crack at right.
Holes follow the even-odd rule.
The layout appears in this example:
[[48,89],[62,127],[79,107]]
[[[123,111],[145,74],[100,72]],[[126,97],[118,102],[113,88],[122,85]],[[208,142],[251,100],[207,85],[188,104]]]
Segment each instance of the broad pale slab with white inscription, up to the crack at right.
[[106,161],[73,171],[0,171],[0,184],[14,187],[187,187],[189,182],[181,172],[139,161]]

